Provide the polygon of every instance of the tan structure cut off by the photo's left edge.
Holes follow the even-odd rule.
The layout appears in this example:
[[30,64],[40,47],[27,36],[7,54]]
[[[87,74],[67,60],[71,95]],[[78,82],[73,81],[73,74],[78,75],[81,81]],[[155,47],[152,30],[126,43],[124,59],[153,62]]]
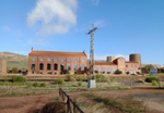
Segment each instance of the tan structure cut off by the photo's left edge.
[[0,59],[0,76],[7,75],[7,61]]

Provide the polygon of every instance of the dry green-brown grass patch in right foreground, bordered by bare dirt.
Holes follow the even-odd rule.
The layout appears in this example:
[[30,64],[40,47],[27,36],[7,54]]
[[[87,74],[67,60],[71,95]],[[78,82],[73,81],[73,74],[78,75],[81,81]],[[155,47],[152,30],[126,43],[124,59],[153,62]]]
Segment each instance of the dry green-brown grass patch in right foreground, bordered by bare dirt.
[[136,101],[133,96],[126,97],[126,98],[113,98],[108,95],[98,95],[98,93],[84,93],[85,97],[92,99],[94,101],[103,102],[106,106],[116,109],[121,112],[129,112],[129,113],[140,113],[145,112],[145,106],[143,105],[142,101]]

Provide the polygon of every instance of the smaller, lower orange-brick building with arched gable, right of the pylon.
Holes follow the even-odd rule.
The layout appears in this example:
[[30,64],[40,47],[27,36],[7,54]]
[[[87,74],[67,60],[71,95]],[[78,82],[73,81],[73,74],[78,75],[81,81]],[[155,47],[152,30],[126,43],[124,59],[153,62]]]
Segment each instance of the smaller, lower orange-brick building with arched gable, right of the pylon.
[[124,58],[117,58],[113,62],[95,62],[94,65],[95,74],[109,75],[114,74],[116,70],[121,71],[122,74],[127,72],[129,72],[129,74],[137,74],[137,72],[140,72],[138,62],[128,62]]

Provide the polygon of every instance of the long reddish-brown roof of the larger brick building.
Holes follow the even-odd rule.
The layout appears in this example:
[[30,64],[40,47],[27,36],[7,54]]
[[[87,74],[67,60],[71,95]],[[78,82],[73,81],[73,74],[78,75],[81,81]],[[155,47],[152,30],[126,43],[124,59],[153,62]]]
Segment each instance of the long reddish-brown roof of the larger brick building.
[[86,56],[85,52],[63,52],[63,51],[31,51],[28,55],[67,55],[67,56]]

